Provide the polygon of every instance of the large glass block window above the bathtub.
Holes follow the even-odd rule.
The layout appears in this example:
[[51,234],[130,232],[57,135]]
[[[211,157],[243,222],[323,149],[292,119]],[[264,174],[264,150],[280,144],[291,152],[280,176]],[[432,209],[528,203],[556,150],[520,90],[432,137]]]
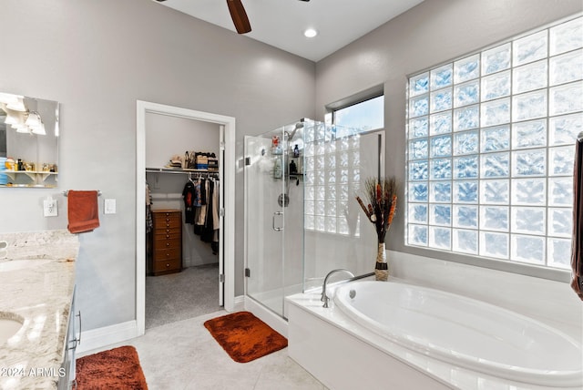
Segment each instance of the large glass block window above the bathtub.
[[405,243],[568,269],[583,18],[416,74]]

